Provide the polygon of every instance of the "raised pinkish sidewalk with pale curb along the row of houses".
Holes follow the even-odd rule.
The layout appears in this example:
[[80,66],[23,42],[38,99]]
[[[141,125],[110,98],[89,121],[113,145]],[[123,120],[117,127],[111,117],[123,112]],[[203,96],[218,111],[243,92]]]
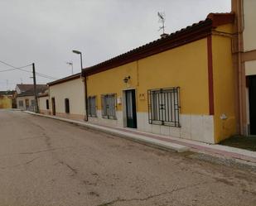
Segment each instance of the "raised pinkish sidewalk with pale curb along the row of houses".
[[230,156],[229,153],[232,153],[232,152],[229,152],[229,151],[227,152],[222,151],[223,154],[221,154],[217,152],[218,150],[214,150],[212,148],[204,148],[203,146],[192,146],[190,143],[186,143],[182,141],[181,141],[181,144],[178,144],[176,143],[178,142],[176,140],[174,140],[174,142],[156,140],[151,137],[142,137],[142,135],[133,134],[132,132],[117,131],[116,129],[94,125],[87,122],[80,122],[80,121],[70,120],[62,117],[52,117],[49,115],[32,113],[29,111],[22,111],[22,112],[36,115],[39,117],[46,117],[46,118],[56,119],[62,122],[72,123],[80,127],[86,127],[86,128],[92,129],[94,131],[108,133],[110,135],[114,135],[115,137],[123,137],[125,139],[136,141],[143,145],[156,147],[164,151],[176,151],[176,152],[192,151],[201,155],[211,156],[216,159],[215,162],[219,162],[220,164],[232,162],[232,164],[234,165],[246,165],[254,169],[256,168],[256,162],[254,160],[255,158],[252,156],[246,156],[247,158],[244,158],[244,156],[240,155],[239,153],[237,154],[234,153],[234,156]]

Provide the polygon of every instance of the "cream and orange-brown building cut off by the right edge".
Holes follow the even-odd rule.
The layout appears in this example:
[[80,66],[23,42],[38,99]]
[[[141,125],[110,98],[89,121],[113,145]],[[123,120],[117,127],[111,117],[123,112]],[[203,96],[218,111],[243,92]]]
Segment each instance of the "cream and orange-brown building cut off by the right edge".
[[238,130],[256,135],[256,1],[232,0],[235,14],[233,57],[236,73]]

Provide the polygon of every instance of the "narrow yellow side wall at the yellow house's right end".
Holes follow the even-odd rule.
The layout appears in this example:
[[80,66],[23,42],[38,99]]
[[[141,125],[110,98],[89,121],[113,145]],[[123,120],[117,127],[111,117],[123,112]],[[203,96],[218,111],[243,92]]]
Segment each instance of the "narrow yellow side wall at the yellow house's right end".
[[[232,64],[231,39],[227,36],[212,36],[213,78],[215,101],[215,142],[236,133],[235,75]],[[225,114],[228,118],[221,120]]]

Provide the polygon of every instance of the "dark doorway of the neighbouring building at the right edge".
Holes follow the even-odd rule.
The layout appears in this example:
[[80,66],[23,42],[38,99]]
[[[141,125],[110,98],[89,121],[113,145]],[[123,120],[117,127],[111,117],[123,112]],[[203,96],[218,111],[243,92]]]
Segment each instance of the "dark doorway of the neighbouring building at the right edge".
[[249,76],[249,122],[250,134],[256,135],[256,75]]

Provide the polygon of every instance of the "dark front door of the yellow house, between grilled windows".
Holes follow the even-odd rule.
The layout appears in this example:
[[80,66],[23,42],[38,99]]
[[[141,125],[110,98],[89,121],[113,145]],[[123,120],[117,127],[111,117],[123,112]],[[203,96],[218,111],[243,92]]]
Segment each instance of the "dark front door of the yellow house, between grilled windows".
[[125,91],[127,127],[137,128],[135,90]]

